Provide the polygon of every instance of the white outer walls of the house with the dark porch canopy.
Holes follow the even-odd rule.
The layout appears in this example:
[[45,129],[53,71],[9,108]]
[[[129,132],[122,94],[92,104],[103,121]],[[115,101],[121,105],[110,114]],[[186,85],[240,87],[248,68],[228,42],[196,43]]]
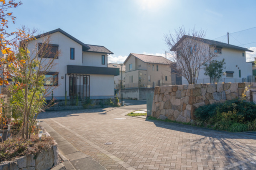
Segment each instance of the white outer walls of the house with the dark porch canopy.
[[[84,65],[97,67],[108,66],[107,54],[84,52],[82,51],[82,46],[80,44],[71,40],[60,32],[53,33],[50,36],[50,43],[58,44],[58,50],[60,51],[58,59],[55,59],[56,65],[52,70],[49,70],[58,72],[58,86],[51,89],[53,90],[53,96],[55,99],[64,99],[65,91],[67,91],[67,96],[69,96],[69,76],[66,75],[67,65]],[[29,43],[29,51],[31,54],[35,50],[35,45],[36,49],[38,49],[38,43],[42,41],[42,38],[38,38],[37,40],[33,40]],[[70,48],[75,48],[75,59],[70,59]],[[105,65],[102,65],[102,55],[105,55]],[[45,58],[45,60],[49,59]],[[79,78],[77,79],[77,82],[79,85]],[[114,76],[90,75],[90,97],[108,98],[108,96],[114,96]],[[49,93],[47,99],[51,99],[51,92]]]

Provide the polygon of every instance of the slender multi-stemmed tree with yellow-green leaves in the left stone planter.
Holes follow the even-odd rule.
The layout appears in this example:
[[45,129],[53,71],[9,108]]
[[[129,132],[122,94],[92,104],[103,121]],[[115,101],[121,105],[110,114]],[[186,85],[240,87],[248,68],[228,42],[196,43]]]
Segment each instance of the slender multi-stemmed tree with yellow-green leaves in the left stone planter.
[[[17,66],[9,66],[9,72],[13,75],[13,81],[16,83],[11,86],[12,110],[23,113],[21,136],[23,139],[29,139],[38,113],[53,103],[50,101],[47,104],[45,97],[51,94],[58,79],[55,79],[54,75],[46,79],[45,74],[53,70],[54,60],[58,57],[59,52],[52,50],[52,46],[49,45],[49,36],[41,37],[41,45],[38,48],[38,42],[32,36],[35,34],[35,30],[29,31],[23,28],[20,33],[17,39],[20,41],[20,45],[15,51],[15,57],[20,62]],[[52,83],[44,86],[46,81]]]

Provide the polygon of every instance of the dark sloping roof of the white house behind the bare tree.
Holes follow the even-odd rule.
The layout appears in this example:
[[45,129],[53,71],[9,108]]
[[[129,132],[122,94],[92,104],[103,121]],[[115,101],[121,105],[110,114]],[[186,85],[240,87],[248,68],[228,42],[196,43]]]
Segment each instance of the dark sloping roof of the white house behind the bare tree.
[[172,49],[170,49],[170,51],[176,51],[177,46],[180,45],[180,43],[185,38],[190,38],[192,40],[201,41],[201,42],[204,42],[206,44],[213,45],[213,46],[225,47],[225,48],[231,48],[231,49],[236,49],[236,50],[241,50],[241,51],[253,52],[252,50],[248,50],[248,48],[243,48],[243,47],[239,47],[239,46],[236,46],[236,45],[231,45],[231,44],[227,44],[227,43],[224,43],[224,42],[208,40],[208,39],[199,38],[199,37],[192,37],[192,36],[189,36],[189,35],[183,35],[183,37],[180,38],[180,40],[172,47]]

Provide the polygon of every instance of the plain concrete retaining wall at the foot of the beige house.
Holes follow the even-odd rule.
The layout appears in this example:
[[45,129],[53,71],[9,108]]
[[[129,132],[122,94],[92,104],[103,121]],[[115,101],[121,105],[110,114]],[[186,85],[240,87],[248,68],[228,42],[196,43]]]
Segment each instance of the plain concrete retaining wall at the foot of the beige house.
[[147,93],[154,93],[154,88],[123,89],[123,98],[145,100],[145,99],[147,99],[147,96],[146,96]]

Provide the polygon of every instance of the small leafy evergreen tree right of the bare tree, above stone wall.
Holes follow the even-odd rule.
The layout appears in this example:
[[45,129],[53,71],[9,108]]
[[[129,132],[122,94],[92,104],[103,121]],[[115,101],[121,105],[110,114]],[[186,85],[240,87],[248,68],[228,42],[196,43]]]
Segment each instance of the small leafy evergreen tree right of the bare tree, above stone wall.
[[218,80],[222,77],[224,64],[226,64],[224,60],[225,59],[222,59],[222,61],[212,60],[209,65],[205,64],[204,75],[209,76],[214,82],[218,82]]

